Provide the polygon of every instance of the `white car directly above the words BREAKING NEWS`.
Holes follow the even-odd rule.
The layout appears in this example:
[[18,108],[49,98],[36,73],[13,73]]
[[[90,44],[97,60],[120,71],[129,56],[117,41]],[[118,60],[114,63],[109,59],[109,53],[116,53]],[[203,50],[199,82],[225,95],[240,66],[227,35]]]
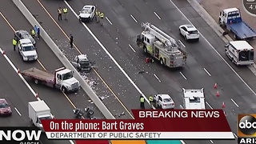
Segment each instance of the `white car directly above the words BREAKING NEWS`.
[[174,109],[174,100],[170,98],[169,94],[156,94],[154,95],[154,102],[161,109]]

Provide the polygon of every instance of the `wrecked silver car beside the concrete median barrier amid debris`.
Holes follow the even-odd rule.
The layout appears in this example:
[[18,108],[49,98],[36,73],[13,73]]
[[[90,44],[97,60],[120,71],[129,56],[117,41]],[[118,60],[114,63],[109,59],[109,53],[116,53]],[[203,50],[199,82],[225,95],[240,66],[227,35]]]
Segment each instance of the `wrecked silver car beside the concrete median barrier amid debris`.
[[78,69],[78,71],[90,72],[90,70],[92,69],[91,62],[87,58],[86,54],[80,54],[75,56],[74,61],[77,64],[76,68]]

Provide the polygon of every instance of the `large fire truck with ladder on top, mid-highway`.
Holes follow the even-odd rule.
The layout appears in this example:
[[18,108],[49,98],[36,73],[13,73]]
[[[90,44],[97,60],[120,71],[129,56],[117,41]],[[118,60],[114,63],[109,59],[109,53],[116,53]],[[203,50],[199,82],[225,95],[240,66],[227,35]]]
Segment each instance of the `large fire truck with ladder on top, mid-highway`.
[[136,42],[146,54],[150,54],[163,66],[170,68],[186,64],[186,51],[182,50],[180,42],[176,42],[174,38],[149,22],[142,22],[142,29]]

